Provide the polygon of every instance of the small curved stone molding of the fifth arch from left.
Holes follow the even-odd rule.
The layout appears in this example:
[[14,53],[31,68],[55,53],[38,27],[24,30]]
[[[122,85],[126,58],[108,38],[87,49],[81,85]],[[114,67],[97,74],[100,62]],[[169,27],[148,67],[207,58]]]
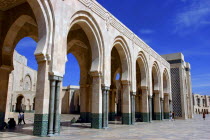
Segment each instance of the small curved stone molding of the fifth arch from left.
[[[154,92],[160,91],[160,85],[161,85],[161,78],[160,78],[160,68],[156,61],[154,61],[152,66],[152,76],[154,76]],[[152,77],[151,77],[152,78]]]

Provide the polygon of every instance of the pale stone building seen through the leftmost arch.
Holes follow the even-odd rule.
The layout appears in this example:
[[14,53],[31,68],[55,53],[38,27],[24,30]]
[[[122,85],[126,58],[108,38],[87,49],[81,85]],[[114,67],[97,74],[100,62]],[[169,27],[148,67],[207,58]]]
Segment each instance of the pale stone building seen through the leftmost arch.
[[14,51],[14,70],[9,75],[7,111],[33,112],[37,71],[27,66],[27,59]]

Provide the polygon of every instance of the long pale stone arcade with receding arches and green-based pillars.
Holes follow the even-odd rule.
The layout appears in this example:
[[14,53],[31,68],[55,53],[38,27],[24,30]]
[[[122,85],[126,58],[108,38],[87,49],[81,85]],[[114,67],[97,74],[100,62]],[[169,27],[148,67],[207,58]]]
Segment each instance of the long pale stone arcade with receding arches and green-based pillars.
[[114,98],[117,87],[122,124],[133,124],[138,115],[145,122],[168,118],[170,64],[96,1],[1,1],[0,124],[13,52],[23,37],[38,43],[34,135],[60,133],[60,93],[68,53],[75,55],[82,71],[80,113],[92,128],[108,127],[108,113],[114,112],[109,98]]

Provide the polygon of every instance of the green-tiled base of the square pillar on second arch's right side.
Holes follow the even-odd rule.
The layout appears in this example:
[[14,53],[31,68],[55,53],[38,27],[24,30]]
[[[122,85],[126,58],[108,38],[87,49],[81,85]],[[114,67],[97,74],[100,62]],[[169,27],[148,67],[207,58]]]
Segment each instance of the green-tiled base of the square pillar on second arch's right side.
[[91,127],[96,129],[102,129],[102,114],[92,113],[91,116]]

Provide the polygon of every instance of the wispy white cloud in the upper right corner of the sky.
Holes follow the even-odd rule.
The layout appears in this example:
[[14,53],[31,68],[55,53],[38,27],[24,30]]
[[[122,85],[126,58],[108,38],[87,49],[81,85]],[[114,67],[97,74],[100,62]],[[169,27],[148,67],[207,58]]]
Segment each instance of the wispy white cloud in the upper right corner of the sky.
[[183,29],[197,29],[203,25],[210,25],[210,2],[209,0],[191,0],[191,4],[180,9],[175,18],[177,31]]

